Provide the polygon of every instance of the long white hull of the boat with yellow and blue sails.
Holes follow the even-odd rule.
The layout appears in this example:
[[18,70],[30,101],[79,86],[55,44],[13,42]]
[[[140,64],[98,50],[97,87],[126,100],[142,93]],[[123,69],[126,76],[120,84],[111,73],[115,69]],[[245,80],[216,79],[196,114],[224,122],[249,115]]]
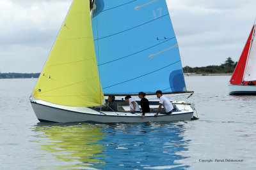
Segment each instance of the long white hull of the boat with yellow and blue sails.
[[97,111],[88,107],[60,106],[44,101],[31,101],[36,117],[40,122],[173,122],[191,120],[193,109],[188,104],[176,104],[179,111],[173,111],[171,115],[146,113],[145,118],[141,113],[132,114],[124,111]]

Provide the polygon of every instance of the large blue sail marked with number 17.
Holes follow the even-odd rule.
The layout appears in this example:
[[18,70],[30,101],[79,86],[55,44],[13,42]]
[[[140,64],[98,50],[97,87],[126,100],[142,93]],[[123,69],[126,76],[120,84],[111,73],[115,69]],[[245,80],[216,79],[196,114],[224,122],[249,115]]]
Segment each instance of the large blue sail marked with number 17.
[[186,91],[165,0],[96,0],[92,27],[104,94]]

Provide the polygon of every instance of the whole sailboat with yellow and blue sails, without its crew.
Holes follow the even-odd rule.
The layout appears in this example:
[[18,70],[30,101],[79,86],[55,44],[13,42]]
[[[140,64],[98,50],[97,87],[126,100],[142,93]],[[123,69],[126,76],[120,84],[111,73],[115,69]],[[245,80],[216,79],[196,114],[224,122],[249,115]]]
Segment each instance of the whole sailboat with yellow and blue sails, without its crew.
[[[170,115],[129,111],[124,96],[157,90],[193,94],[166,1],[74,0],[29,99],[40,122],[191,120],[193,107],[184,101],[173,102]],[[118,111],[100,110],[109,95]],[[158,103],[150,101],[151,111]]]

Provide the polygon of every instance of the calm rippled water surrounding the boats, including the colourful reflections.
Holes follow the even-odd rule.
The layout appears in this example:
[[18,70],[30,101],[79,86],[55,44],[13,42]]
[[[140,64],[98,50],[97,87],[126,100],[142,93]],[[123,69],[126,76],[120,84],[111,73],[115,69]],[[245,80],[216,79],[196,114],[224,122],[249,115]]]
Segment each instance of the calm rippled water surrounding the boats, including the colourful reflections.
[[39,123],[36,79],[0,80],[0,169],[255,169],[256,96],[228,96],[230,76],[185,78],[200,120],[112,125]]

